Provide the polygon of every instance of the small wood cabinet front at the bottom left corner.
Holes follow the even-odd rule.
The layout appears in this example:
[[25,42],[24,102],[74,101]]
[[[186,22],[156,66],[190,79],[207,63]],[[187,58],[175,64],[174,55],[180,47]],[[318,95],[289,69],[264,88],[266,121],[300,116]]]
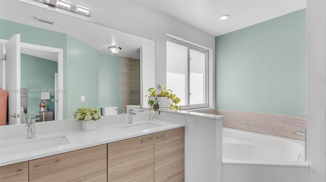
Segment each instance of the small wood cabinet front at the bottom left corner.
[[29,162],[21,162],[0,167],[0,181],[29,181]]

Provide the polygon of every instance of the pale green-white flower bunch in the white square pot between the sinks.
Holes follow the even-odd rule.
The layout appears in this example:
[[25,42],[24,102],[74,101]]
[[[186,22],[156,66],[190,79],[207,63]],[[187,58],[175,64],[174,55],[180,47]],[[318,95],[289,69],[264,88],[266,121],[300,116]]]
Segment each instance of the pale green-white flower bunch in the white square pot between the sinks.
[[98,120],[101,119],[101,115],[98,114],[97,110],[93,108],[78,107],[77,111],[73,113],[73,117],[78,121],[89,121],[89,120]]

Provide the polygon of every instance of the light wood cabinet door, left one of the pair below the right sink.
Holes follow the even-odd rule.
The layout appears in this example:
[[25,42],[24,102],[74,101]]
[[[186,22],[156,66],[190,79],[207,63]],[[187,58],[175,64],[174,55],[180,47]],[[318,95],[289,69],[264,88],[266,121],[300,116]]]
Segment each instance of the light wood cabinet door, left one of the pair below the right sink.
[[154,181],[154,134],[107,144],[107,181]]

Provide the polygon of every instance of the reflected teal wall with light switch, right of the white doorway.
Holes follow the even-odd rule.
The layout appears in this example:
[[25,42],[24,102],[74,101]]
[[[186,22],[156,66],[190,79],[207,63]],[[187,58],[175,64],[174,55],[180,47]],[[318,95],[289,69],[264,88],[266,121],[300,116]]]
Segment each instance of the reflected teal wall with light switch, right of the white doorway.
[[[98,52],[67,36],[67,113],[68,119],[80,106],[98,108]],[[85,101],[80,97],[85,96]]]

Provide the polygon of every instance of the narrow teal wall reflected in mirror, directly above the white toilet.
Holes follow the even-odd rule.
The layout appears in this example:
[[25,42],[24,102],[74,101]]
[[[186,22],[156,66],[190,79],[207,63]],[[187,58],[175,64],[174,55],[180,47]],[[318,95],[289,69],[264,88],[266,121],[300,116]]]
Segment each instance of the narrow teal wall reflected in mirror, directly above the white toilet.
[[98,62],[99,110],[102,106],[118,106],[121,110],[121,57],[100,54]]

